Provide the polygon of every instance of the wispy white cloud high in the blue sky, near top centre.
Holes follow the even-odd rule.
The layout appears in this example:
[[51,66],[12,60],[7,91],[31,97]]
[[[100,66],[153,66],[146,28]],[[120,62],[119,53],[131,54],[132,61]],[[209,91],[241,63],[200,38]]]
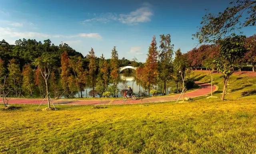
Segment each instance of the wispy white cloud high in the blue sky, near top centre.
[[102,22],[107,23],[111,21],[119,21],[123,24],[138,24],[141,22],[149,22],[151,21],[150,17],[153,15],[151,10],[151,6],[148,3],[142,5],[142,7],[132,11],[128,14],[113,14],[113,13],[106,13],[100,14],[94,18],[86,19],[82,23],[86,24],[89,22]]

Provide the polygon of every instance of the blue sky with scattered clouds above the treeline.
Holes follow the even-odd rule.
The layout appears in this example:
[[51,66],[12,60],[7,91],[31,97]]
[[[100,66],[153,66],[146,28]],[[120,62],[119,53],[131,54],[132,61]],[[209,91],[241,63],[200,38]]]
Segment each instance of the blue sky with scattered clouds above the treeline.
[[[228,0],[0,0],[0,39],[10,44],[22,38],[65,42],[84,56],[110,58],[116,46],[119,58],[144,62],[152,36],[170,34],[174,50],[187,52],[198,45],[192,34],[207,12],[224,10]],[[254,34],[255,28],[244,29]]]

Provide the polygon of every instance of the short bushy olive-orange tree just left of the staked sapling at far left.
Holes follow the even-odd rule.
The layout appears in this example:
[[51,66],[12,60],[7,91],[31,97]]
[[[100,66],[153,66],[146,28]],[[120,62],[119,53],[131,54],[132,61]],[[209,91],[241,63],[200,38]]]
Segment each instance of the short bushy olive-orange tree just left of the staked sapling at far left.
[[35,88],[34,84],[34,71],[32,70],[30,64],[25,64],[22,70],[22,90],[25,91],[26,94],[30,94],[33,97],[33,92]]

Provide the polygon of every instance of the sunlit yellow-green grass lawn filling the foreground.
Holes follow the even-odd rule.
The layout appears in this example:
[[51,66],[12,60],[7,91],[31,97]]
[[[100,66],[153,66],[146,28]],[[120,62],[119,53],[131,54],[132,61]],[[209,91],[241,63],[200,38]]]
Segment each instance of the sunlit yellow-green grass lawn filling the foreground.
[[[210,75],[196,72],[209,82]],[[0,110],[1,154],[254,154],[255,77],[233,75],[225,101]],[[222,78],[214,74],[220,96]],[[42,106],[42,108],[45,106]],[[2,107],[3,108],[3,107]]]

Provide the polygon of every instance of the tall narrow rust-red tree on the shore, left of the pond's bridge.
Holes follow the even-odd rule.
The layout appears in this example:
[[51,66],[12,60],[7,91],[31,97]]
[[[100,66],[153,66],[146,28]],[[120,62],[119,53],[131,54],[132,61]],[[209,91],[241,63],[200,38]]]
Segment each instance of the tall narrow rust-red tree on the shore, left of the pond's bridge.
[[68,53],[66,51],[64,51],[61,54],[61,83],[62,83],[62,88],[65,91],[65,96],[68,97],[69,93],[68,93],[68,76],[70,76],[70,70],[69,70],[69,58],[68,58]]

